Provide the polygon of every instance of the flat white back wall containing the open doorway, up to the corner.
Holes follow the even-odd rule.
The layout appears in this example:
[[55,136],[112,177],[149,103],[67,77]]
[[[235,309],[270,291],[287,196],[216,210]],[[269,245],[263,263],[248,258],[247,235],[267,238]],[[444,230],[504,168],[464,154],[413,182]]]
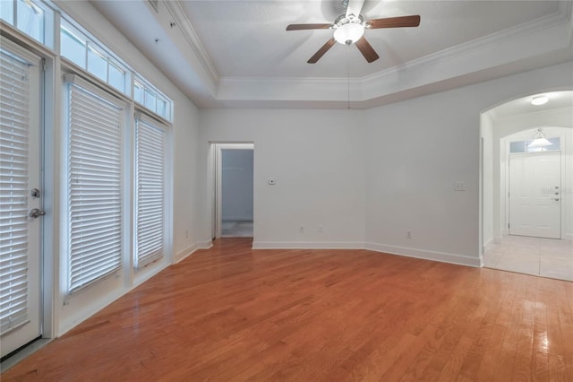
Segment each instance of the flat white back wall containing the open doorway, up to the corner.
[[253,247],[363,247],[362,121],[355,110],[201,109],[200,168],[210,143],[254,143]]

